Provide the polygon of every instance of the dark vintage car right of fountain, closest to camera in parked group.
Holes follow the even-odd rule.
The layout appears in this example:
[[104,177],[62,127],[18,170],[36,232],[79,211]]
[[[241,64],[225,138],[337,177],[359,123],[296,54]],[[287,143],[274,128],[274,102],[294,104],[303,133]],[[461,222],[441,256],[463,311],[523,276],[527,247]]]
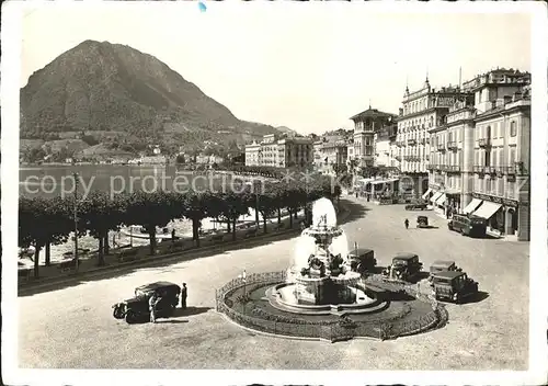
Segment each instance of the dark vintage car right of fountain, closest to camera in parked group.
[[436,300],[447,299],[457,304],[466,297],[478,294],[478,282],[469,279],[466,272],[441,271],[432,274],[432,296]]

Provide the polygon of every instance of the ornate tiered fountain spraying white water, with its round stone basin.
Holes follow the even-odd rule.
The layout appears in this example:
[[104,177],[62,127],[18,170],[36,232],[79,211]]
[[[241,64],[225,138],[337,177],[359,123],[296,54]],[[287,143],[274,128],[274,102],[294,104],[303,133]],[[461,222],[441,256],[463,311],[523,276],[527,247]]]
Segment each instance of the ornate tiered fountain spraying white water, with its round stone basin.
[[302,230],[285,283],[266,292],[271,305],[289,313],[340,314],[373,309],[379,302],[358,285],[361,274],[347,261],[346,235],[336,225],[333,204],[320,198],[312,224]]

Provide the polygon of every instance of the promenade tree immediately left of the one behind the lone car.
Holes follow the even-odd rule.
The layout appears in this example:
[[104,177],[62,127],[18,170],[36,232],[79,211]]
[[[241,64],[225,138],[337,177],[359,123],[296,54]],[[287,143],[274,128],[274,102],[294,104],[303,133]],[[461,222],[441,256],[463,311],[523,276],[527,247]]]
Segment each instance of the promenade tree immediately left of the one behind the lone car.
[[81,202],[80,219],[90,235],[99,240],[98,265],[104,265],[110,230],[118,230],[125,212],[124,195],[113,200],[106,192],[92,192]]

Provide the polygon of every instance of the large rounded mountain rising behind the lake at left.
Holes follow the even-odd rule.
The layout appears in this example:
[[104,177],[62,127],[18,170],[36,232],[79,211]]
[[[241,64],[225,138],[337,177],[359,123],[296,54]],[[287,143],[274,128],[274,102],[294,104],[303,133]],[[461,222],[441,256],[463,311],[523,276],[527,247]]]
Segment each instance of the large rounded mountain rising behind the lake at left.
[[85,41],[61,54],[28,78],[20,96],[26,139],[201,149],[205,140],[241,144],[277,133],[237,118],[156,57],[109,42]]

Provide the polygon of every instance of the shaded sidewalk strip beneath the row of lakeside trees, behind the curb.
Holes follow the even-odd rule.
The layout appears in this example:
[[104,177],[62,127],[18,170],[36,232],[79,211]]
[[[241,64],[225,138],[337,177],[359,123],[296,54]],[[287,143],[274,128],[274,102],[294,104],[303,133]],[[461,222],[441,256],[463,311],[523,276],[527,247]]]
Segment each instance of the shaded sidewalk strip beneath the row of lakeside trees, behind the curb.
[[[343,219],[345,218],[345,216],[350,214],[350,212],[344,207],[344,205],[341,206],[342,211],[338,217],[340,219]],[[300,213],[302,211],[300,211]],[[266,225],[267,228],[266,234],[263,234],[263,228],[261,224],[261,227],[256,236],[246,237],[246,232],[249,229],[238,230],[236,234],[236,241],[232,241],[232,235],[227,232],[224,232],[221,235],[222,239],[220,238],[215,239],[215,236],[218,237],[218,235],[206,236],[205,238],[201,239],[199,248],[196,248],[194,246],[194,242],[191,242],[192,240],[190,241],[187,240],[185,241],[184,246],[181,249],[170,251],[173,248],[172,242],[164,241],[158,243],[157,254],[155,256],[149,256],[150,246],[134,247],[132,249],[126,250],[126,251],[130,250],[132,251],[130,254],[133,254],[128,256],[129,258],[128,261],[119,261],[118,254],[116,253],[119,252],[119,250],[111,249],[112,254],[105,256],[105,265],[98,266],[96,258],[82,259],[80,261],[78,272],[73,270],[71,270],[70,272],[61,272],[59,269],[59,264],[52,264],[50,266],[41,265],[39,268],[41,276],[38,279],[30,277],[28,281],[19,279],[18,287],[20,291],[24,292],[26,290],[60,284],[67,281],[82,280],[98,274],[103,274],[107,272],[117,272],[122,270],[127,270],[129,268],[149,265],[167,260],[192,259],[193,257],[197,257],[199,254],[203,254],[204,252],[212,251],[213,253],[215,250],[219,250],[226,247],[252,245],[253,242],[260,240],[267,240],[269,238],[274,238],[276,236],[299,232],[300,227],[298,225],[300,219],[302,219],[302,216],[299,216],[297,219],[294,219],[293,228],[289,228],[288,216],[282,218],[282,224],[284,224],[284,228],[281,229],[277,229],[277,220],[273,220],[272,223]],[[136,252],[134,253],[134,251]]]

